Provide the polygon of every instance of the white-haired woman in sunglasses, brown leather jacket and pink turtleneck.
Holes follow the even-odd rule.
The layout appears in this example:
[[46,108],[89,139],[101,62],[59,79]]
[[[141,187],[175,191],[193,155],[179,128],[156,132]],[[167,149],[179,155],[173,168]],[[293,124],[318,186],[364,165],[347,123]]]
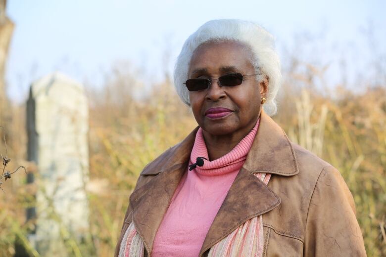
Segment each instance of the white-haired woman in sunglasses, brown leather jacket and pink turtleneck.
[[188,38],[174,82],[198,127],[141,172],[115,256],[366,256],[339,171],[270,118],[280,80],[274,39],[252,22]]

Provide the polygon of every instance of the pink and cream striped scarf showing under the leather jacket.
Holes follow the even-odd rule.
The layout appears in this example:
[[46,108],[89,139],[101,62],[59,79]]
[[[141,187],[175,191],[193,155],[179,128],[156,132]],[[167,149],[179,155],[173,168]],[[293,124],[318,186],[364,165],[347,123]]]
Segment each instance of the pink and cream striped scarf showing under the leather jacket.
[[[257,178],[268,184],[271,174],[256,173]],[[208,257],[261,257],[264,248],[262,215],[245,221],[227,237],[215,244]],[[143,257],[144,242],[132,222],[121,242],[119,257]]]

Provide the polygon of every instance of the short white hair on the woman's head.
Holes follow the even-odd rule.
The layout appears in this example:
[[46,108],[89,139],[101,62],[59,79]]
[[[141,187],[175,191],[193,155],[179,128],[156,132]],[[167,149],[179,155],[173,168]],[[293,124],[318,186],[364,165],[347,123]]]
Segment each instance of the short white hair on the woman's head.
[[[264,111],[272,116],[277,112],[276,95],[281,85],[279,55],[275,38],[260,25],[238,19],[211,20],[203,24],[184,43],[174,67],[174,86],[181,100],[190,106],[189,91],[183,84],[188,79],[189,65],[194,50],[208,41],[237,41],[252,51],[251,62],[258,82],[268,79],[267,101]],[[260,99],[258,99],[260,101]]]

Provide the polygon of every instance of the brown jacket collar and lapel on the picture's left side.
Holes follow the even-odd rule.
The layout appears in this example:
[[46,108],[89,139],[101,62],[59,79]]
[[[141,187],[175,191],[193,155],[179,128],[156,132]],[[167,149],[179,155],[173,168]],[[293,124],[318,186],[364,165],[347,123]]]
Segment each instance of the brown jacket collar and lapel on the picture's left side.
[[156,175],[130,196],[132,220],[151,253],[153,241],[182,176],[188,167],[195,134],[194,129],[181,143],[148,164],[141,176]]

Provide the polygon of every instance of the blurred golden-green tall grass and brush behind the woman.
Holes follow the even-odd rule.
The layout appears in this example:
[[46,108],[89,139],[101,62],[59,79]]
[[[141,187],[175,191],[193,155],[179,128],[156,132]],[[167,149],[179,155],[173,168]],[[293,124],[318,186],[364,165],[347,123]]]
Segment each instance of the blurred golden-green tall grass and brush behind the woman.
[[[330,88],[334,94],[329,95],[315,86],[320,71],[323,68],[303,64],[284,73],[274,120],[292,141],[338,168],[354,196],[368,256],[386,256],[386,85],[364,85],[366,89],[356,93],[340,85]],[[141,95],[144,85],[133,74],[127,67],[115,67],[102,88],[88,87],[90,231],[86,240],[78,241],[63,228],[70,256],[112,255],[139,173],[196,126],[168,76]],[[2,124],[13,160],[9,169],[23,165],[36,173],[34,164],[24,161],[25,106],[9,112],[13,119]],[[0,256],[13,255],[15,242],[30,256],[39,256],[26,237],[34,223],[26,222],[25,208],[34,204],[36,188],[25,179],[24,173],[15,174],[0,192]]]

